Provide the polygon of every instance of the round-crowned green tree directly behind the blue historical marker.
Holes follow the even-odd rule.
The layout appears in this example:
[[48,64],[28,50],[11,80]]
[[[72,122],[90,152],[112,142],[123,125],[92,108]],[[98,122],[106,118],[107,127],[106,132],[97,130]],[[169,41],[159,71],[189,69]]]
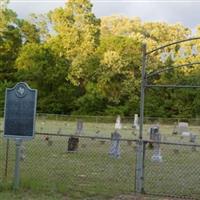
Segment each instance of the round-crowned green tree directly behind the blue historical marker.
[[76,87],[65,78],[69,68],[66,59],[47,44],[32,43],[22,48],[16,63],[18,77],[39,90],[38,111],[70,113],[73,110]]

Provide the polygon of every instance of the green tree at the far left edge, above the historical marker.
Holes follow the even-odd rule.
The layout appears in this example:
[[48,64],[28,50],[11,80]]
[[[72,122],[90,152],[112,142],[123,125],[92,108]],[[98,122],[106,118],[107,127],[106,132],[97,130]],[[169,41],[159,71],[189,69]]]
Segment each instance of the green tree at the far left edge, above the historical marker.
[[8,9],[0,10],[0,77],[13,81],[15,59],[22,45],[17,15]]

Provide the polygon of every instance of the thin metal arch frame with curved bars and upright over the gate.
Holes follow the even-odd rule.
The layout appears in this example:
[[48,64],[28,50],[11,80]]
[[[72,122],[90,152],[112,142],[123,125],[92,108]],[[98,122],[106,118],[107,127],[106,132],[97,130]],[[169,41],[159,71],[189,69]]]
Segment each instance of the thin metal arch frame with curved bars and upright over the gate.
[[144,123],[144,100],[145,100],[145,89],[146,88],[151,88],[151,87],[165,87],[165,88],[200,88],[200,85],[151,85],[151,84],[147,84],[147,79],[149,77],[152,77],[154,75],[160,74],[162,72],[166,72],[170,69],[174,69],[174,68],[180,68],[180,67],[188,67],[188,66],[193,66],[193,65],[197,65],[200,64],[200,62],[195,62],[195,63],[186,63],[183,65],[177,65],[177,66],[168,66],[165,67],[162,70],[157,70],[154,72],[151,72],[149,74],[146,73],[146,67],[147,67],[147,57],[154,53],[157,52],[159,50],[165,49],[166,47],[172,46],[172,45],[176,45],[179,43],[184,43],[184,42],[188,42],[188,41],[192,41],[192,40],[200,40],[200,37],[194,37],[194,38],[188,38],[188,39],[184,39],[184,40],[179,40],[176,42],[172,42],[163,46],[160,46],[156,49],[153,49],[151,51],[147,52],[147,45],[143,44],[142,45],[142,77],[141,77],[141,94],[140,94],[140,129],[139,129],[139,140],[143,139],[143,123]]

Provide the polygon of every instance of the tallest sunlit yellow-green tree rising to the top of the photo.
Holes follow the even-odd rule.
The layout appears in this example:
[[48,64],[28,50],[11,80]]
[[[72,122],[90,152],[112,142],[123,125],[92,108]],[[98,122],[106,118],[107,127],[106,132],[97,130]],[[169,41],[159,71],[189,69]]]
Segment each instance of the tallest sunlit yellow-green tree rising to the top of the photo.
[[99,44],[100,21],[92,13],[89,0],[69,0],[64,8],[56,9],[50,16],[57,33],[50,42],[71,63],[67,78],[83,87],[91,69],[88,60]]

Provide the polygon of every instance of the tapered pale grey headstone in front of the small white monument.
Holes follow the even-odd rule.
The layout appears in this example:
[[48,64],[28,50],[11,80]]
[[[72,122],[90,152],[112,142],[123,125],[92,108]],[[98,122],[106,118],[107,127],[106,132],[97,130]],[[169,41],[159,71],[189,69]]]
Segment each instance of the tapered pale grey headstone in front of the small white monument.
[[114,158],[120,157],[120,139],[121,135],[118,131],[115,130],[114,133],[111,133],[111,147],[109,155]]

